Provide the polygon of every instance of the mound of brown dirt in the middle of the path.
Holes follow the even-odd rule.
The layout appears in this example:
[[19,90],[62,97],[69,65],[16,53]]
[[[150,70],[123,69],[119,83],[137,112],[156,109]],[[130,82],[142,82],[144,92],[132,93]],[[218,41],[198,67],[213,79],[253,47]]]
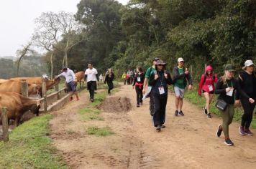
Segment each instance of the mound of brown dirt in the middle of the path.
[[108,97],[99,105],[99,108],[104,112],[129,112],[132,104],[127,97]]

